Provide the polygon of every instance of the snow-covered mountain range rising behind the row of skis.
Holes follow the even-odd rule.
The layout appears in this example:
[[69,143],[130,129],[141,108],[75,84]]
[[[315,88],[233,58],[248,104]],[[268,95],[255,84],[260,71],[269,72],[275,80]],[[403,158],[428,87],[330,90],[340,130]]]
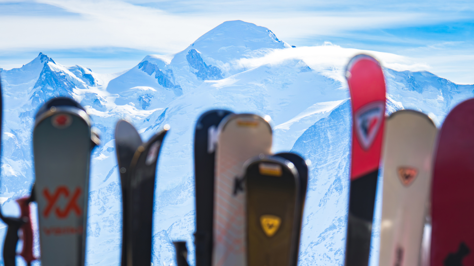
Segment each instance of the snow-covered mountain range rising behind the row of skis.
[[[92,155],[87,264],[118,265],[115,123],[129,119],[143,139],[169,124],[156,177],[153,264],[174,265],[171,241],[179,239],[188,241],[194,264],[192,134],[197,118],[212,108],[270,115],[273,151],[291,150],[312,162],[299,265],[342,265],[351,141],[343,72],[357,53],[370,53],[385,66],[403,61],[393,54],[332,44],[292,47],[269,29],[239,20],[222,23],[180,53],[147,55],[115,74],[65,67],[39,53],[21,68],[0,72],[2,210],[18,212],[12,199],[28,194],[34,179],[31,142],[37,109],[53,96],[72,97],[87,109],[102,139]],[[453,106],[473,97],[474,85],[457,85],[427,71],[385,68],[384,73],[387,113],[415,109],[439,125]],[[0,230],[3,238],[6,228]]]

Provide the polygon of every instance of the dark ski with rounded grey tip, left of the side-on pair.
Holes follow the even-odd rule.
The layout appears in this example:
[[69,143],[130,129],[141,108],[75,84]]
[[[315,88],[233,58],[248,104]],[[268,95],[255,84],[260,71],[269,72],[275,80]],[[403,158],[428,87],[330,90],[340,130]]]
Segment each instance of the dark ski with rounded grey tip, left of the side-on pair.
[[143,144],[140,134],[135,127],[126,120],[119,120],[115,127],[115,148],[118,160],[118,172],[120,173],[120,184],[122,187],[122,257],[121,265],[127,265],[128,232],[131,231],[130,224],[125,217],[129,216],[128,202],[130,194],[130,163],[138,147]]

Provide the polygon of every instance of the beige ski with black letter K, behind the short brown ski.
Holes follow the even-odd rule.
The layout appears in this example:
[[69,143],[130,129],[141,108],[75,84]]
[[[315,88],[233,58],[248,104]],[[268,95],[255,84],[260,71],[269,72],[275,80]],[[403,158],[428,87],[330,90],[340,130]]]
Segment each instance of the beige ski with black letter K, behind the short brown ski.
[[213,266],[245,266],[243,166],[269,154],[272,128],[260,116],[228,115],[218,129],[214,186]]

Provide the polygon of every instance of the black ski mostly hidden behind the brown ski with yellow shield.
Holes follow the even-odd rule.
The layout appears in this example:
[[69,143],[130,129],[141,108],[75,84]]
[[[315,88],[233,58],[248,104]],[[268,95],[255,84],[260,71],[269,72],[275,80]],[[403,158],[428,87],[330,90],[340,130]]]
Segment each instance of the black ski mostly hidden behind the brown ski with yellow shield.
[[299,199],[299,207],[298,213],[296,215],[295,223],[299,226],[298,231],[294,234],[295,240],[294,244],[296,245],[296,251],[294,252],[294,257],[292,259],[293,266],[298,265],[298,255],[300,253],[300,239],[301,239],[301,227],[302,227],[302,219],[303,219],[303,210],[304,210],[304,202],[306,201],[306,192],[308,190],[308,165],[306,161],[301,158],[296,153],[292,152],[281,152],[275,154],[275,156],[281,157],[285,160],[289,160],[293,163],[298,171],[299,183],[300,183],[300,199]]

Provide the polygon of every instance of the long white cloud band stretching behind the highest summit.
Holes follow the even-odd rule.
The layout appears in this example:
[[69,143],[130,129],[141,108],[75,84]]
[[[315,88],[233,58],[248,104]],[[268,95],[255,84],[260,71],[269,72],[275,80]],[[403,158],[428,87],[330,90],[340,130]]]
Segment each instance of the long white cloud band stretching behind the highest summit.
[[324,12],[229,9],[223,13],[170,13],[120,0],[39,0],[81,16],[0,17],[0,49],[116,46],[175,53],[226,20],[268,27],[283,40],[341,35],[357,29],[427,24],[440,18],[419,12]]

